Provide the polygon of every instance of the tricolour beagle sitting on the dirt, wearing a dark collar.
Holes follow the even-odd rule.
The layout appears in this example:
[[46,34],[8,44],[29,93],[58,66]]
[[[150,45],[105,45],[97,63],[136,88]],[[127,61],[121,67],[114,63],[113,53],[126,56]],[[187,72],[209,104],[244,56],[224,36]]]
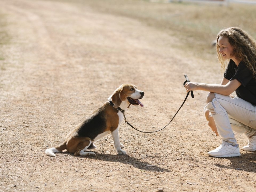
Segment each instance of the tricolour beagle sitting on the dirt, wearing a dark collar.
[[94,142],[111,133],[117,154],[126,155],[122,150],[124,145],[120,144],[118,129],[124,118],[123,113],[131,104],[143,107],[139,100],[143,96],[144,92],[138,90],[135,85],[122,84],[106,103],[68,134],[65,142],[57,147],[46,149],[45,154],[55,157],[54,153],[67,149],[75,156],[95,156],[95,153],[85,150],[95,149]]

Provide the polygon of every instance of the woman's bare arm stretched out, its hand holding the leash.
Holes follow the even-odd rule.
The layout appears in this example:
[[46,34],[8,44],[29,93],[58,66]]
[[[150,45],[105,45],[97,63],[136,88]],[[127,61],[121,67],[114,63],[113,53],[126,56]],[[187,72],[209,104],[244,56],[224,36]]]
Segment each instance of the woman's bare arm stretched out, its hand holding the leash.
[[240,85],[241,85],[241,83],[239,81],[237,81],[236,79],[229,81],[228,79],[223,77],[221,84],[205,84],[205,83],[187,82],[185,84],[185,88],[186,88],[187,92],[203,90],[203,91],[219,93],[222,95],[230,95]]

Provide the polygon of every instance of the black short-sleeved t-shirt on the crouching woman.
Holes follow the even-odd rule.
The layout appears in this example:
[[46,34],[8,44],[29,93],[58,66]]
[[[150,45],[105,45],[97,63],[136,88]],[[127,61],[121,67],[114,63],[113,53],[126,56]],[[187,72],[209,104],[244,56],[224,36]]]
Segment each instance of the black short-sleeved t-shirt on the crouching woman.
[[236,63],[230,60],[224,77],[230,81],[233,79],[239,81],[241,85],[236,89],[237,97],[256,105],[256,79],[243,61],[237,67]]

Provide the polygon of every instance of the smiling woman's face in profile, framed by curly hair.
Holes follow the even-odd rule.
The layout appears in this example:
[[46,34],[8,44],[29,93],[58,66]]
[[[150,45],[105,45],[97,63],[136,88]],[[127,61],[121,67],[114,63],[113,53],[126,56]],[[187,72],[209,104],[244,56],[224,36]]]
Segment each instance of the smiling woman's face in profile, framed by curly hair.
[[228,43],[228,38],[225,36],[220,36],[218,40],[219,53],[223,57],[223,60],[232,59],[233,47]]

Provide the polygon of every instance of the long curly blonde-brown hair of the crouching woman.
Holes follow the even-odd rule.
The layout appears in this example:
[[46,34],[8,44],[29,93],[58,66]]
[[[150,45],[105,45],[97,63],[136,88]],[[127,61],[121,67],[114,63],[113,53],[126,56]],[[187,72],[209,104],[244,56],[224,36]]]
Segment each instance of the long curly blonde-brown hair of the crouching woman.
[[246,67],[252,71],[253,77],[256,78],[256,41],[247,32],[238,27],[221,30],[217,35],[216,50],[222,70],[224,70],[226,63],[219,53],[220,46],[218,43],[220,36],[228,38],[228,42],[233,47],[232,55],[235,55],[237,60],[244,61]]

